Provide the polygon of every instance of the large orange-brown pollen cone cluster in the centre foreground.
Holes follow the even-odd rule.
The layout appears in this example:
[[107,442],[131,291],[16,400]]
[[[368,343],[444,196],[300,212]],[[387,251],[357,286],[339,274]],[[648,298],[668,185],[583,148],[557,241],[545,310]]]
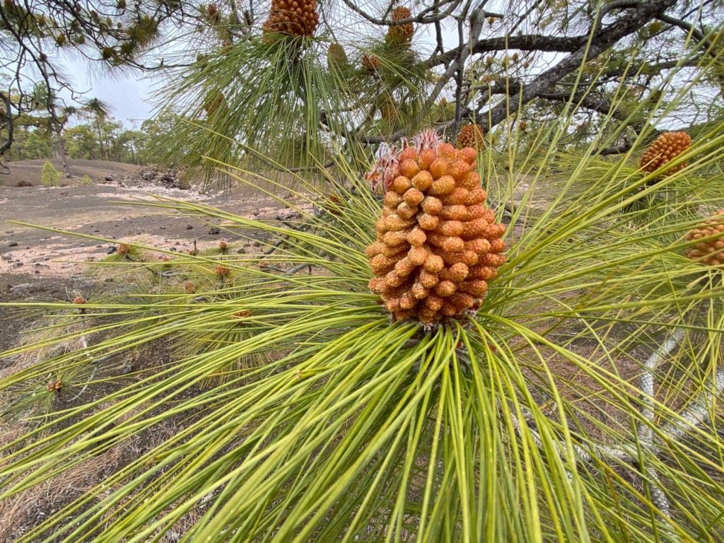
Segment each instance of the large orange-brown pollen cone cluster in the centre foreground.
[[429,324],[476,310],[505,262],[505,225],[484,205],[476,151],[404,148],[366,249],[371,290],[397,320]]

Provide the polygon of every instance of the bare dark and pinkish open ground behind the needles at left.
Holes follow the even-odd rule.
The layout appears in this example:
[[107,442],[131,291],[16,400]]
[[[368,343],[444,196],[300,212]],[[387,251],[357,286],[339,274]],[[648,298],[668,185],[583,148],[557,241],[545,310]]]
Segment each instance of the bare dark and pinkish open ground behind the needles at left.
[[[43,187],[38,179],[44,161],[11,163],[11,174],[0,175],[0,300],[69,301],[77,291],[96,288],[88,263],[105,258],[116,242],[132,241],[166,251],[188,252],[218,246],[233,235],[219,230],[220,221],[202,221],[166,209],[125,205],[153,201],[153,195],[219,207],[242,216],[273,217],[280,204],[269,196],[240,186],[224,192],[180,190],[145,182],[142,170],[130,164],[106,161],[71,161],[77,178],[63,179],[66,186]],[[57,165],[56,165],[57,166]],[[79,177],[88,174],[93,184]],[[113,177],[105,181],[106,177]],[[20,180],[35,180],[32,187],[18,187]],[[40,230],[66,230],[89,239]],[[243,232],[253,236],[253,232]],[[248,245],[248,240],[245,242]],[[17,309],[0,307],[0,353],[17,342],[35,317]]]

